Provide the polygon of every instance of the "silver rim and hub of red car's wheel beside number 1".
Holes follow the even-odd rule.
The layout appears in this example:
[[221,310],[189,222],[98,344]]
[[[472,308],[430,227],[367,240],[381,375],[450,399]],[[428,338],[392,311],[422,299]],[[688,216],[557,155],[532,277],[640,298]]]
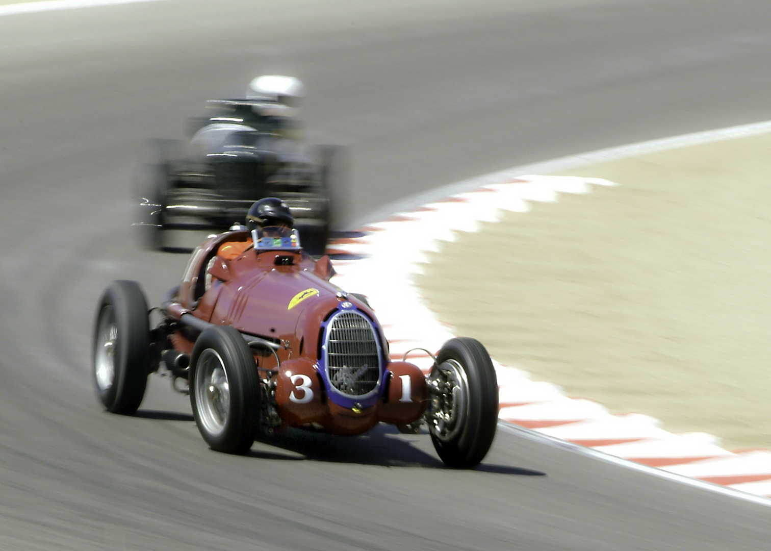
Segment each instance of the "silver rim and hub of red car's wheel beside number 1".
[[431,370],[431,403],[426,415],[429,431],[441,441],[450,441],[463,429],[469,404],[466,371],[456,360],[446,360]]

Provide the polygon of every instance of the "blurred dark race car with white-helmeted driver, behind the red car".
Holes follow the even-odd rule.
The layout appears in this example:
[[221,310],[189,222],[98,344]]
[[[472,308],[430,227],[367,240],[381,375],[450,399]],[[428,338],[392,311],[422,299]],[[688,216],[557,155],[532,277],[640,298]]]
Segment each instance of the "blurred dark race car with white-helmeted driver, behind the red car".
[[264,197],[287,201],[311,255],[322,255],[332,195],[342,185],[343,151],[307,147],[295,117],[301,83],[254,79],[247,98],[211,100],[187,144],[153,140],[135,174],[136,221],[143,245],[167,247],[167,230],[223,231]]

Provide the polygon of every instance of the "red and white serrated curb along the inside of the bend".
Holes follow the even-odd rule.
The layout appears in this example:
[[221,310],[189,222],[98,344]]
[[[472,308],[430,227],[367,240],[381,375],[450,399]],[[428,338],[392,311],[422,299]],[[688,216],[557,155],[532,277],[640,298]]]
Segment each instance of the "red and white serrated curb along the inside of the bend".
[[[751,128],[756,130],[757,125]],[[709,134],[709,138],[714,136]],[[655,144],[671,147],[672,140]],[[608,158],[608,151],[602,152],[603,158]],[[397,212],[329,245],[338,272],[333,281],[369,297],[389,338],[392,358],[401,360],[414,348],[434,352],[456,335],[429,310],[412,280],[422,272],[426,252],[438,250],[441,241],[453,241],[456,232],[478,231],[481,221],[497,221],[504,211],[527,212],[531,201],[557,201],[561,193],[588,193],[595,185],[615,184],[597,178],[520,176]],[[421,350],[410,353],[409,360],[423,370],[431,365]],[[531,380],[517,367],[494,359],[493,363],[503,421],[545,438],[658,468],[660,475],[682,475],[771,497],[771,451],[732,452],[721,448],[718,439],[709,434],[673,434],[652,417],[610,414],[601,404],[567,397],[554,384]],[[712,484],[704,485],[718,488]],[[760,501],[771,505],[766,499]]]

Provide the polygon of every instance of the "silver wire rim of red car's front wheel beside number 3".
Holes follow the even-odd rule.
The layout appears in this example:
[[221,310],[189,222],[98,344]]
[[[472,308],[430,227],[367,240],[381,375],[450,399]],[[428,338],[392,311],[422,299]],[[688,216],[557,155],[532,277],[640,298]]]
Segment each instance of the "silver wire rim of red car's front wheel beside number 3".
[[195,370],[195,399],[204,430],[217,436],[225,430],[231,411],[231,391],[225,363],[217,351],[207,348],[198,357]]

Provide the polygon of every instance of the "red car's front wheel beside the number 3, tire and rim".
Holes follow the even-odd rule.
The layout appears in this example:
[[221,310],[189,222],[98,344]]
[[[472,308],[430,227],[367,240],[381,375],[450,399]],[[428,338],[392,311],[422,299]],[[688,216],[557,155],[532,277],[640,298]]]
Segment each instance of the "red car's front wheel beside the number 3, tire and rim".
[[198,337],[190,357],[190,406],[214,451],[249,451],[260,421],[260,381],[241,333],[215,326]]

